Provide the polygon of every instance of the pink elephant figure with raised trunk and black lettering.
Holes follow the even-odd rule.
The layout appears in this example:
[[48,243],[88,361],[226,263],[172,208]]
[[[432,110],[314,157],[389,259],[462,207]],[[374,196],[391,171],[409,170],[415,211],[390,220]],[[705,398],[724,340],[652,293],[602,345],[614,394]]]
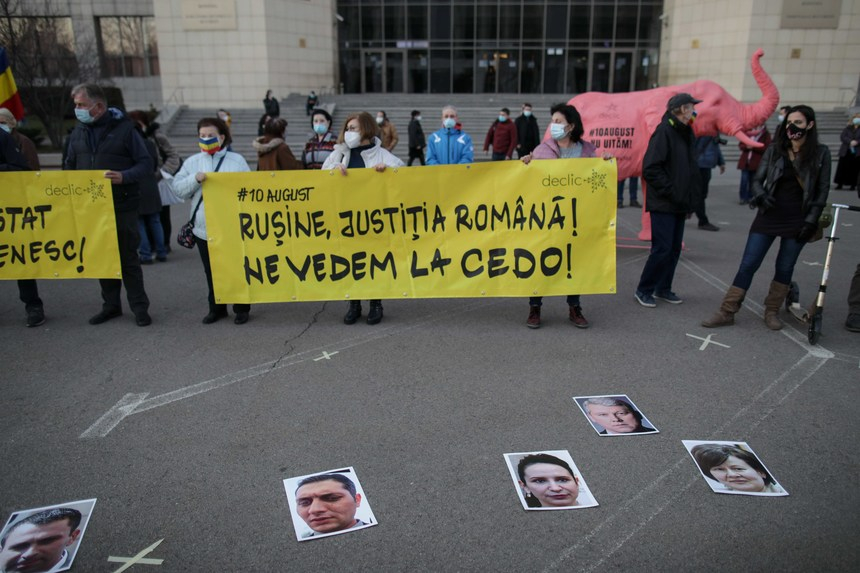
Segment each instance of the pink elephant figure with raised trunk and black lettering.
[[666,102],[677,93],[686,92],[702,100],[696,105],[698,117],[693,123],[697,136],[724,133],[750,147],[761,147],[744,132],[763,124],[779,104],[779,91],[759,62],[763,55],[759,49],[750,62],[762,92],[761,99],[753,104],[739,102],[710,80],[629,93],[588,92],[568,103],[576,106],[582,116],[584,139],[596,145],[599,152],[617,158],[619,180],[642,174],[648,140],[666,112]]

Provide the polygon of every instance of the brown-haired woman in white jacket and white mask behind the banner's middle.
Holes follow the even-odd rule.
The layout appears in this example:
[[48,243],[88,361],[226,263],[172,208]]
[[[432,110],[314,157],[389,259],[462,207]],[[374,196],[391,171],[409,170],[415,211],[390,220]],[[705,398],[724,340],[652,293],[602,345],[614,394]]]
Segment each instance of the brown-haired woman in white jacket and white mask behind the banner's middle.
[[[323,169],[339,168],[344,175],[347,170],[372,167],[379,173],[386,167],[403,167],[403,162],[382,147],[379,130],[373,117],[367,112],[354,113],[346,118],[337,138],[334,151],[323,164]],[[361,316],[361,301],[352,300],[343,317],[345,324],[355,324]],[[367,313],[367,324],[378,324],[382,320],[382,301],[371,300]]]

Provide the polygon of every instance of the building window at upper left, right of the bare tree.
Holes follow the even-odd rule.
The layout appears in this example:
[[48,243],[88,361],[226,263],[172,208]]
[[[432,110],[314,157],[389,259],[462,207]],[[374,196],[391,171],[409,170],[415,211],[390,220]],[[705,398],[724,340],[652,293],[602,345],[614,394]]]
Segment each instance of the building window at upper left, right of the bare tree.
[[154,18],[101,17],[96,19],[96,27],[106,76],[140,78],[160,74]]

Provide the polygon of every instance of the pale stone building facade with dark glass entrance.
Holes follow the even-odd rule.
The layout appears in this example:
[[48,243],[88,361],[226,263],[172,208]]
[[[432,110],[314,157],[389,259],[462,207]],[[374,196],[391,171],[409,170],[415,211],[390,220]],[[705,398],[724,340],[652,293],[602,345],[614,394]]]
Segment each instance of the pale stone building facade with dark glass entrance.
[[[257,107],[290,93],[626,92],[711,79],[850,107],[856,0],[44,0],[6,20],[45,58],[97,63],[126,104]],[[50,12],[50,25],[32,15]],[[23,29],[23,28],[22,28]],[[53,50],[53,51],[52,51]],[[74,56],[73,56],[74,54]],[[65,58],[65,60],[63,60]],[[64,64],[65,66],[65,64]],[[65,66],[68,67],[68,66]]]

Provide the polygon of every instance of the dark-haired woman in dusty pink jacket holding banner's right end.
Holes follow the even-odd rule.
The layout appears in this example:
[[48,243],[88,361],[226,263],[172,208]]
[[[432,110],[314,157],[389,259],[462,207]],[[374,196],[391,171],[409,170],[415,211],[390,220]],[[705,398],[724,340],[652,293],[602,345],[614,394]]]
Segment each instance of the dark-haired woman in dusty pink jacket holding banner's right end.
[[[524,155],[523,163],[528,165],[532,159],[597,157],[597,148],[582,139],[585,128],[582,125],[582,117],[574,106],[560,103],[552,106],[550,113],[552,113],[552,120],[549,125],[551,138],[538,145],[533,152]],[[543,297],[541,296],[529,298],[529,317],[526,320],[526,326],[529,328],[540,328],[540,307],[542,304]],[[567,306],[573,325],[577,328],[588,328],[588,321],[582,315],[582,307],[579,305],[578,294],[567,295]]]

